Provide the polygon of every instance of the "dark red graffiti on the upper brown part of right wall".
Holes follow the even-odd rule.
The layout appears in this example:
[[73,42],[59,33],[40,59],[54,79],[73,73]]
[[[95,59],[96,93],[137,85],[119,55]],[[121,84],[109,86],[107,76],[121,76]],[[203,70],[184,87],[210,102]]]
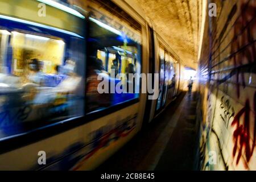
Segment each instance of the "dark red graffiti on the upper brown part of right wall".
[[[250,2],[242,1],[241,16],[238,16],[234,23],[234,37],[231,44],[231,59],[233,59],[234,69],[230,76],[236,75],[237,97],[240,97],[240,86],[245,88],[245,73],[255,73],[256,48],[253,38],[256,24],[255,12],[256,6],[252,6]],[[225,81],[225,80],[224,80]],[[250,83],[249,83],[250,84]]]

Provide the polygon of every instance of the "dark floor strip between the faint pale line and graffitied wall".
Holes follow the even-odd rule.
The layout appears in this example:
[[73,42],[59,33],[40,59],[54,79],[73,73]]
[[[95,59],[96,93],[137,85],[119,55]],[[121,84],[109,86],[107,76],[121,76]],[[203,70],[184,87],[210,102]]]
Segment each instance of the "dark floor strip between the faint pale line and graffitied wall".
[[174,133],[155,170],[193,170],[197,146],[196,106],[197,94],[185,96],[185,105]]

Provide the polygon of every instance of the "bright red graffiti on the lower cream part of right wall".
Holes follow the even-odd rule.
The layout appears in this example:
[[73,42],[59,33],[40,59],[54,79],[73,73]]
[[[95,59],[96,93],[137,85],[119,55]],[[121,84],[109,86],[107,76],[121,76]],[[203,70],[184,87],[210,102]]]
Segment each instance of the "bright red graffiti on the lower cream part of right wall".
[[[256,111],[256,92],[254,93],[254,126],[251,126],[250,123],[250,101],[247,99],[245,102],[245,107],[243,107],[237,115],[234,117],[232,122],[232,126],[236,126],[236,130],[233,133],[234,138],[234,148],[233,148],[233,157],[237,156],[236,164],[240,162],[242,151],[245,149],[245,157],[246,162],[249,162],[251,156],[253,155],[253,151],[255,148],[256,142],[256,118],[255,118],[255,111]],[[243,118],[242,118],[243,116]],[[250,130],[254,127],[253,133],[253,143],[250,142]]]

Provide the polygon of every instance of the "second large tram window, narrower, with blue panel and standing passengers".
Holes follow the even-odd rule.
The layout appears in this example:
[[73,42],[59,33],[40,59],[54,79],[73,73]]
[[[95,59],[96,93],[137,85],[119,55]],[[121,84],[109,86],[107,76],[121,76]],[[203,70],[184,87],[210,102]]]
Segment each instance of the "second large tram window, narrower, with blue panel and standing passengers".
[[[128,74],[141,73],[140,44],[93,21],[89,23],[88,44],[86,111],[90,113],[138,98],[139,94],[134,91],[139,88],[139,83],[129,80]],[[109,93],[98,93],[99,75],[109,82]],[[129,93],[110,93],[110,85],[119,82],[127,88],[131,85],[133,90],[127,89]]]

